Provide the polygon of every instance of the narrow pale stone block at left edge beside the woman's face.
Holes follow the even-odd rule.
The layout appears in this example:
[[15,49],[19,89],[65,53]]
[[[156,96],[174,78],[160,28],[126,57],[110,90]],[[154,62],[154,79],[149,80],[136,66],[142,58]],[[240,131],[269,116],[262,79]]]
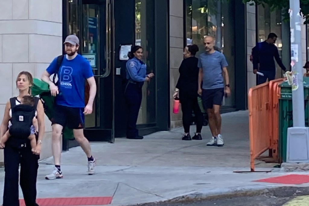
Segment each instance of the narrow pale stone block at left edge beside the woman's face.
[[[6,102],[12,97],[13,81],[15,82],[15,78],[12,78],[12,64],[0,63],[0,104],[6,104]],[[0,117],[0,119],[1,118],[2,117]]]

